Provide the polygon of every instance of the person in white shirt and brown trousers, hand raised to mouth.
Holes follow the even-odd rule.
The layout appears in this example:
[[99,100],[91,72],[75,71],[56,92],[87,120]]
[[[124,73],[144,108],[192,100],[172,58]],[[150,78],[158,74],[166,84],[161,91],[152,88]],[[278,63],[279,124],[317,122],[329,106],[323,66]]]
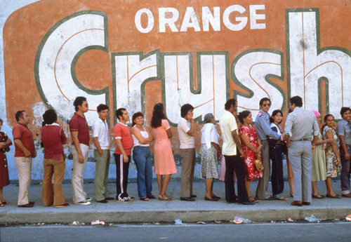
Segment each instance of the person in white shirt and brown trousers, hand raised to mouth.
[[190,104],[180,108],[178,135],[180,141],[180,155],[182,156],[182,173],[180,175],[180,201],[195,201],[196,195],[192,194],[192,180],[195,168],[194,145],[194,107]]

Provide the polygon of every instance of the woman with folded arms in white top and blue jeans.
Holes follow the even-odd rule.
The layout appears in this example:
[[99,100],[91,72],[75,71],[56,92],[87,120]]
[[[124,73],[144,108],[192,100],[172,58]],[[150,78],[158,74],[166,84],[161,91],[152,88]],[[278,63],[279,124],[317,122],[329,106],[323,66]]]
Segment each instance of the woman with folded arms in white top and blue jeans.
[[143,126],[144,114],[136,112],[132,116],[132,137],[133,137],[133,160],[138,170],[138,196],[141,201],[156,199],[152,195],[152,163],[150,155],[150,143],[154,137],[149,130]]

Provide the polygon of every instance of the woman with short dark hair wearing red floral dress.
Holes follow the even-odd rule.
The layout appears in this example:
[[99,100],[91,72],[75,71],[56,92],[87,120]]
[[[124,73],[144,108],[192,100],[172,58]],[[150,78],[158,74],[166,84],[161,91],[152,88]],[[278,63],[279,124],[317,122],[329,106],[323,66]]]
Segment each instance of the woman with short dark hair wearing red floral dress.
[[238,118],[241,122],[241,126],[239,127],[239,137],[242,148],[245,152],[244,166],[246,168],[246,192],[247,196],[249,196],[249,201],[257,203],[258,200],[251,196],[250,182],[255,178],[263,176],[263,170],[258,171],[254,163],[255,159],[261,159],[261,142],[256,133],[256,128],[252,124],[251,112],[245,110],[239,113]]

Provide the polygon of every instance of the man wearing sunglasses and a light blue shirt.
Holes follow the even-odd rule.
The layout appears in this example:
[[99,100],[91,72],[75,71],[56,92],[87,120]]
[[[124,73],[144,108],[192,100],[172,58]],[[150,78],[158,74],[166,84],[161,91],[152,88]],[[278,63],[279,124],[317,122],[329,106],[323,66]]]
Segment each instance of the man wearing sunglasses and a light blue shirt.
[[268,193],[268,182],[270,181],[270,143],[269,138],[279,140],[280,136],[270,128],[270,99],[262,98],[260,100],[260,112],[255,120],[258,137],[260,137],[262,149],[261,157],[263,163],[263,177],[260,177],[256,189],[256,198],[260,200],[273,200],[274,198]]

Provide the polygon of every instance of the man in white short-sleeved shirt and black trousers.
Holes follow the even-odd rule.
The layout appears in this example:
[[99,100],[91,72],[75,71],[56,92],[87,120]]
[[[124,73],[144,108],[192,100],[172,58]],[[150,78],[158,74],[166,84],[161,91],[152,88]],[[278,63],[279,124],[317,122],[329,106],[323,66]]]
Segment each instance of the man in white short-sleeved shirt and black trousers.
[[[254,205],[249,201],[245,189],[244,151],[241,147],[237,133],[237,121],[234,112],[237,111],[237,100],[230,99],[225,102],[225,112],[220,117],[220,130],[222,132],[222,154],[225,157],[225,201],[227,203],[242,203]],[[237,148],[239,154],[237,154]],[[235,196],[233,175],[237,175],[238,196]]]

